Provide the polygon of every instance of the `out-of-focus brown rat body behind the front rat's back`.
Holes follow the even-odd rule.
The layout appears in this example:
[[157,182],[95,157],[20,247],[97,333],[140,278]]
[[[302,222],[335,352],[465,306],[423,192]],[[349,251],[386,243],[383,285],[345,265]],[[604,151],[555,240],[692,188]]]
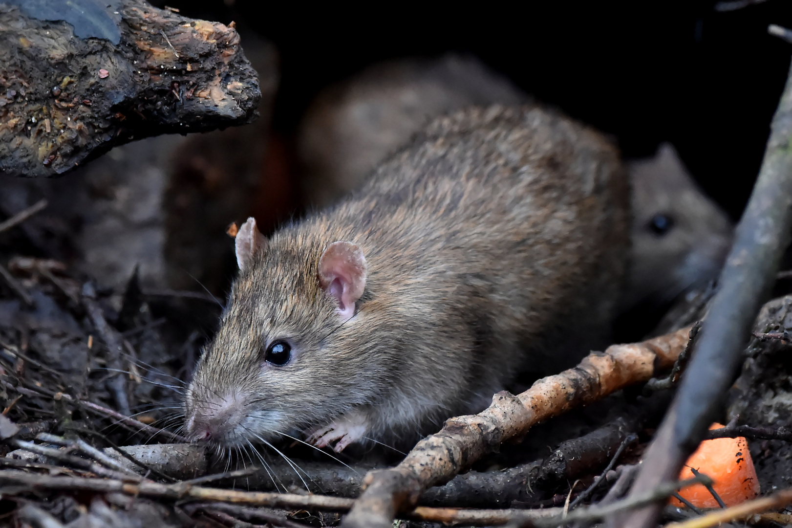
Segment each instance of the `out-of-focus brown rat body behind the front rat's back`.
[[297,141],[303,193],[318,207],[336,201],[435,117],[466,106],[527,102],[507,78],[471,56],[375,64],[322,90],[307,109]]

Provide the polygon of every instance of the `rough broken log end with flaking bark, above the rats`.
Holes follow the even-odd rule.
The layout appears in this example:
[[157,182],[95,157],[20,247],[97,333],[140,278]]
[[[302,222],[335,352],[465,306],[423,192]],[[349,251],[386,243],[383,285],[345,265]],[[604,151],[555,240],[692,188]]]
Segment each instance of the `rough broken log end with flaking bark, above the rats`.
[[55,176],[131,140],[256,117],[233,27],[143,0],[67,6],[0,0],[0,173]]

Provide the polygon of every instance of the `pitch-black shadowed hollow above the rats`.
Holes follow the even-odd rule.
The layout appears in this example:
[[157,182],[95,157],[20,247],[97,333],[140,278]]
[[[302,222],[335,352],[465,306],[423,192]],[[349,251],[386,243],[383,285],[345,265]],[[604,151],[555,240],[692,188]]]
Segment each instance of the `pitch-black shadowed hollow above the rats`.
[[[619,139],[626,156],[670,140],[737,219],[762,159],[792,44],[792,2],[521,2],[322,5],[157,0],[188,17],[253,29],[280,53],[274,126],[288,138],[310,99],[371,63],[478,55],[540,100]],[[723,2],[721,4],[723,6]],[[244,47],[244,40],[242,42]]]

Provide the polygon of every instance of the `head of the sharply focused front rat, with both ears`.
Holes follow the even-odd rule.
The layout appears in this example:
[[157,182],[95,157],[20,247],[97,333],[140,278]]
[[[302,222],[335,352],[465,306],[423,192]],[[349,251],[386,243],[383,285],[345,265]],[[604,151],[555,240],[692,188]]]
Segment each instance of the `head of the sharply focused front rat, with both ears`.
[[[367,266],[356,244],[296,231],[268,241],[248,219],[239,277],[185,395],[193,441],[245,446],[316,425],[356,404],[356,303]],[[359,387],[356,387],[359,388]]]

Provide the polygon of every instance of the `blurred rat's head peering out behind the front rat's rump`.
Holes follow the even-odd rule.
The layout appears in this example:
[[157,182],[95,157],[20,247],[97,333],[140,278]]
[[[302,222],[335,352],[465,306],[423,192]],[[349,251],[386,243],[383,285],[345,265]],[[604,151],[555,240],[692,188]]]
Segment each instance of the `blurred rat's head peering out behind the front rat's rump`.
[[662,304],[718,277],[732,240],[728,217],[695,185],[669,143],[629,164],[630,288],[625,308]]

